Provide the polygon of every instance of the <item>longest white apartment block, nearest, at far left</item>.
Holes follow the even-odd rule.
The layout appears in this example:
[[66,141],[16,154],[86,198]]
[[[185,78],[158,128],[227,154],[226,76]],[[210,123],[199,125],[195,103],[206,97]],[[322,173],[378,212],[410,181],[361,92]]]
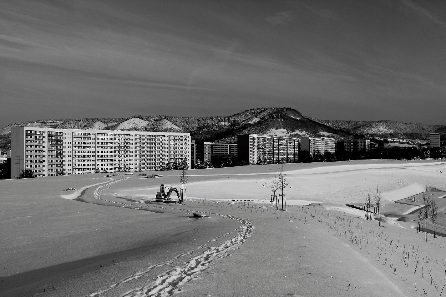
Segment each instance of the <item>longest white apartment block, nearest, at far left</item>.
[[119,171],[155,171],[186,159],[190,134],[11,127],[11,178]]

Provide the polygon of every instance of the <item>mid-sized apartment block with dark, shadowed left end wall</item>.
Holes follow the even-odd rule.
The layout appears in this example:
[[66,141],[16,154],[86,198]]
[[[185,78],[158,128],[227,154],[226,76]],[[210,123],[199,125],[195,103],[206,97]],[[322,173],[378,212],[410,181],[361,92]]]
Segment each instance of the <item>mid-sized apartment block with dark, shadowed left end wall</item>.
[[241,163],[292,163],[297,161],[298,154],[297,138],[259,134],[239,134],[237,138],[237,155]]

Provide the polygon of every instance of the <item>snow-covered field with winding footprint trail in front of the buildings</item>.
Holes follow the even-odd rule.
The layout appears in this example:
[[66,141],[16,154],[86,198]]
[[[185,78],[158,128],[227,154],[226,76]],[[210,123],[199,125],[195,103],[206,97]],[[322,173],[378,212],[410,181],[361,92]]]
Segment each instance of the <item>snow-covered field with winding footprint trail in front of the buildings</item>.
[[392,201],[446,191],[446,163],[284,164],[287,212],[269,207],[276,170],[191,170],[182,205],[140,203],[177,171],[1,180],[0,296],[438,296],[444,237],[345,204],[379,187],[383,212],[408,213]]

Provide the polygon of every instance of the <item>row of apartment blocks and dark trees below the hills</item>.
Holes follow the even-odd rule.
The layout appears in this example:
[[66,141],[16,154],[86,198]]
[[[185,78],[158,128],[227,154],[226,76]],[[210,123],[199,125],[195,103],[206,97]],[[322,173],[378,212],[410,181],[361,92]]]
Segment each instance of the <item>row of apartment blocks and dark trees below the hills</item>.
[[[205,142],[190,133],[11,127],[11,150],[0,158],[3,179],[56,175],[204,169],[352,159],[444,159],[440,134],[422,145],[391,139],[336,140],[238,134],[235,142]],[[426,145],[427,144],[427,145]]]

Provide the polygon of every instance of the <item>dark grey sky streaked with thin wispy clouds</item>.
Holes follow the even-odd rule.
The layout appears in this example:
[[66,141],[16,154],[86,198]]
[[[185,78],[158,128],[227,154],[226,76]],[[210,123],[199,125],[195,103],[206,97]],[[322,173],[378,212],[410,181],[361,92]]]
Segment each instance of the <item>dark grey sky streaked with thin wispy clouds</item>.
[[256,107],[446,124],[443,0],[0,2],[0,127]]

